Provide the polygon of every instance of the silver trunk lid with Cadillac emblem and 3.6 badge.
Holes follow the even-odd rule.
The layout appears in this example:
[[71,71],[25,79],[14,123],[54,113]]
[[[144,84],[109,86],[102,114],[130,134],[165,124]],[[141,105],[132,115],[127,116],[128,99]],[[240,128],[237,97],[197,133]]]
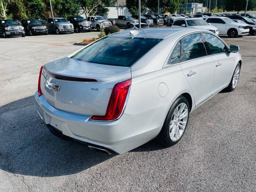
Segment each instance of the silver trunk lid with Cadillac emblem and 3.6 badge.
[[44,65],[40,85],[44,98],[54,108],[104,116],[114,85],[130,78],[130,67],[65,57]]

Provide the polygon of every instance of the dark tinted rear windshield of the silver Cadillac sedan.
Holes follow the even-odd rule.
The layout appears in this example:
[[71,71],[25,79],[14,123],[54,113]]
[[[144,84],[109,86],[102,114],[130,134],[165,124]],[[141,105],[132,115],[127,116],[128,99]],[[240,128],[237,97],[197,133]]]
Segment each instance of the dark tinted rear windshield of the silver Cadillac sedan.
[[90,63],[131,67],[163,39],[106,36],[71,58]]

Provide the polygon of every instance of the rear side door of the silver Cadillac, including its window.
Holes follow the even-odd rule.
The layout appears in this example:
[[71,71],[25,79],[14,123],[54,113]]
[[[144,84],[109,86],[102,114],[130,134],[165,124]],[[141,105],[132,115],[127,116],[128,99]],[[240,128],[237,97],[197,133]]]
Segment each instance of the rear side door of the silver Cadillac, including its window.
[[199,33],[181,39],[180,66],[192,88],[197,107],[212,96],[214,81],[214,60],[207,56]]

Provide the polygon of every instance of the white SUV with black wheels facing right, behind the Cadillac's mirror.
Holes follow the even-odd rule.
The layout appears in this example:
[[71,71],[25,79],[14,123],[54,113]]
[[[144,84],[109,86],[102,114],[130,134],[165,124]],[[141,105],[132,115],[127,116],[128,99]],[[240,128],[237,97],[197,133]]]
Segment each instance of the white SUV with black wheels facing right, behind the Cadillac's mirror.
[[249,34],[249,26],[244,23],[236,23],[227,17],[205,17],[207,23],[219,29],[219,35],[228,37],[244,36]]

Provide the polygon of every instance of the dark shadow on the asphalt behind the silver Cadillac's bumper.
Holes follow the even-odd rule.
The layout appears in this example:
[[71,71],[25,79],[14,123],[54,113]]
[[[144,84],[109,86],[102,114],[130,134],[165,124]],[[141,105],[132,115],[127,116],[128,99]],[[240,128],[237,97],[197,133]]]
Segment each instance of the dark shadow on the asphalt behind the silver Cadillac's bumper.
[[38,116],[34,96],[0,107],[0,169],[39,177],[84,171],[113,156],[53,135]]

